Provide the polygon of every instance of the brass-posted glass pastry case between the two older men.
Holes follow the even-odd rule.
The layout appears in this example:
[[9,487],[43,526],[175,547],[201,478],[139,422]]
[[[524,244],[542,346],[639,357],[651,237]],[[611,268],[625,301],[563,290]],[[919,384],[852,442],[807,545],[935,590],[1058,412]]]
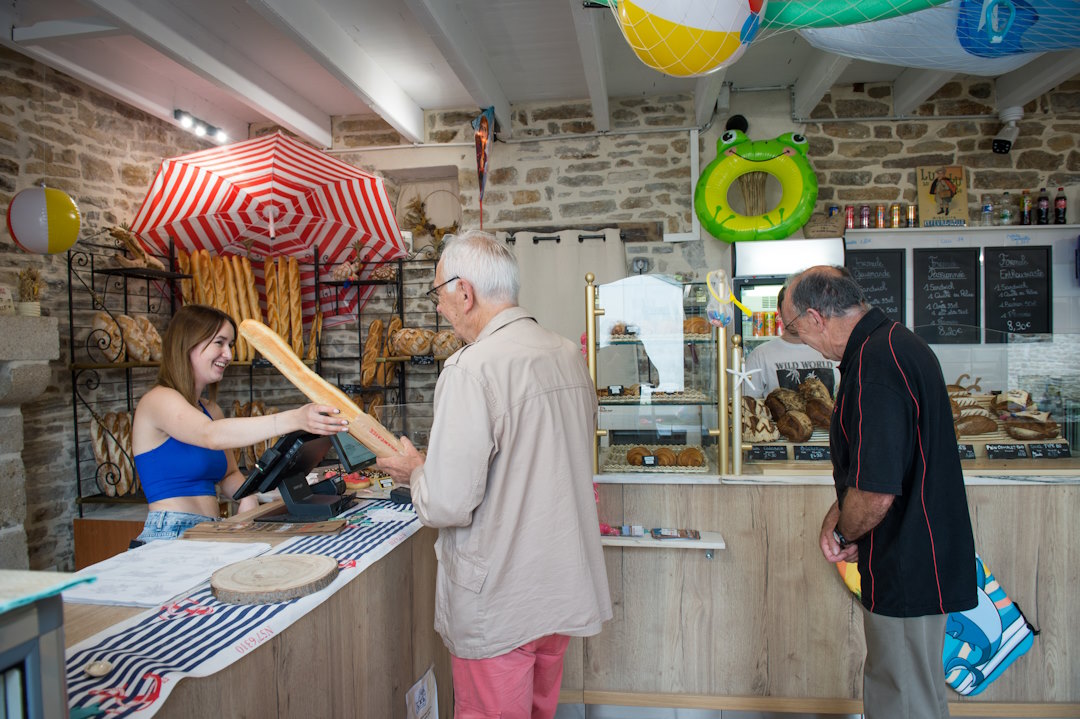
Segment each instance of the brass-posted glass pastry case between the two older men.
[[599,286],[589,275],[586,283],[585,350],[599,405],[597,474],[634,480],[719,474],[726,362],[723,330],[705,320],[705,285],[664,275]]

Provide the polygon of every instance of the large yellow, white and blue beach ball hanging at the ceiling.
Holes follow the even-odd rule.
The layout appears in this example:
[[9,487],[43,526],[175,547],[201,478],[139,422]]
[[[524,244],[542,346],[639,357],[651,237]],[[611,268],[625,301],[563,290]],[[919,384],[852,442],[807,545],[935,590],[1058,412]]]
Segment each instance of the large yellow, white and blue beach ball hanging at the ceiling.
[[734,63],[761,26],[767,0],[618,0],[616,16],[634,54],[665,74],[689,78]]

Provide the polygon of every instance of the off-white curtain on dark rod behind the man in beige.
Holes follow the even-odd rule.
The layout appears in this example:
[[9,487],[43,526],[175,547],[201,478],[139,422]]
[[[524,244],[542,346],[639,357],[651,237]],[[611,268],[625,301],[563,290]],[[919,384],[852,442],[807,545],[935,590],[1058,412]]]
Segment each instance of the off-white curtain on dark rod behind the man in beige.
[[[559,241],[535,236],[558,235]],[[604,239],[578,241],[578,235],[603,234]],[[500,233],[500,238],[505,235]],[[602,285],[626,276],[626,258],[619,230],[563,230],[562,232],[516,232],[510,247],[522,271],[518,304],[539,323],[575,344],[585,331],[585,273],[596,275]]]

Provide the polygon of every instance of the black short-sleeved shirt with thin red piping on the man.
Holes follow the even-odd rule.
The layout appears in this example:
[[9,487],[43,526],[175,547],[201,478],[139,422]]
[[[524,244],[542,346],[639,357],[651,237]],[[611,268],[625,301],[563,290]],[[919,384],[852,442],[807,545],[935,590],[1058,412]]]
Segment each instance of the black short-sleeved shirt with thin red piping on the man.
[[941,365],[881,310],[854,326],[829,430],[840,506],[848,487],[894,494],[859,538],[862,601],[888,616],[975,606],[975,545]]

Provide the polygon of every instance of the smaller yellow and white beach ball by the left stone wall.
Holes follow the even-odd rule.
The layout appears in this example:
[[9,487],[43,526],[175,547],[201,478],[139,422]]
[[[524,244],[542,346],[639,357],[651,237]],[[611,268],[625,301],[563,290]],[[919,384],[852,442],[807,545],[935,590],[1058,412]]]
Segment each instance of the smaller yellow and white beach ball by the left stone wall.
[[62,190],[31,187],[12,198],[8,230],[28,253],[64,253],[79,239],[79,207]]

